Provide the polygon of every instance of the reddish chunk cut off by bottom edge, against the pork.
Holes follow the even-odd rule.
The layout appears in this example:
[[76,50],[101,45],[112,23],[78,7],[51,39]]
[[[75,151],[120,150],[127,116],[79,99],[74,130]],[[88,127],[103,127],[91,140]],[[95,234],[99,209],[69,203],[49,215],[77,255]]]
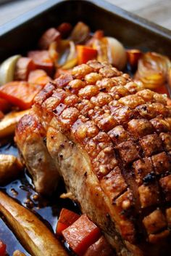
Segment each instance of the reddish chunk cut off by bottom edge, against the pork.
[[104,236],[86,250],[84,256],[114,256],[114,251]]

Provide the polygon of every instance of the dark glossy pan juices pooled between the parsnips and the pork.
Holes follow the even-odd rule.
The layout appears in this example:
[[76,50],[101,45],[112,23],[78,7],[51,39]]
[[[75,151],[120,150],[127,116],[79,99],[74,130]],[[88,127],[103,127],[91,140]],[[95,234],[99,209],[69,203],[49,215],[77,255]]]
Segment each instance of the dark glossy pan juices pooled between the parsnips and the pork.
[[[7,145],[1,146],[0,153],[12,154],[14,156],[18,155],[18,151],[14,143],[8,143]],[[60,199],[60,195],[65,192],[64,183],[61,183],[53,196],[45,197],[38,195],[34,190],[32,180],[26,169],[17,180],[13,180],[7,185],[0,186],[0,190],[7,193],[13,199],[19,201],[24,207],[33,211],[54,233],[59,213],[62,208],[71,209],[74,212],[79,213],[78,206],[70,199]],[[12,230],[10,226],[7,225],[5,218],[2,215],[0,216],[0,237],[1,240],[7,244],[8,255],[12,256],[14,250],[17,249],[24,252],[27,256],[30,255],[25,248],[22,247],[22,241],[18,241],[14,233],[12,233]],[[68,249],[68,245],[66,243],[64,243],[64,246]]]

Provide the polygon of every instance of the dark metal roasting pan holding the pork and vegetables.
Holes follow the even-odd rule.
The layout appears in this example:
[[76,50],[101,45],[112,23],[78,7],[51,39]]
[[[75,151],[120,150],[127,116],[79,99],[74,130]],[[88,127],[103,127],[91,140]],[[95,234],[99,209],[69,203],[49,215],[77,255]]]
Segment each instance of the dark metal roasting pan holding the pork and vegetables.
[[[79,20],[88,24],[91,31],[102,29],[106,36],[116,37],[125,47],[156,51],[171,57],[171,31],[159,25],[150,23],[106,1],[51,0],[0,27],[0,61],[13,54],[25,54],[28,49],[36,49],[36,42],[46,28],[57,26],[62,22],[75,24]],[[0,145],[0,153],[16,155],[18,152],[13,143],[9,143]],[[35,193],[27,173],[1,189],[25,207],[29,207],[26,200],[33,201]],[[56,227],[57,217],[62,207],[79,211],[72,201],[59,199],[59,194],[63,191],[64,186],[59,188],[57,194],[51,199],[33,201],[33,211],[51,229]],[[0,219],[0,238],[7,244],[7,252],[10,256],[15,249],[25,252],[20,241],[17,241],[10,227],[7,227],[5,220],[2,219]]]

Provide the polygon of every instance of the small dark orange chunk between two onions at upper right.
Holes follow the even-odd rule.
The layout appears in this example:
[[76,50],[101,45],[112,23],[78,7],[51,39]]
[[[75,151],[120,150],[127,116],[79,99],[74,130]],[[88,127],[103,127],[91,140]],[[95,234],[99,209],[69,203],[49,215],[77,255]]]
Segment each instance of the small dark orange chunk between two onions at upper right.
[[141,58],[142,52],[139,49],[127,49],[126,53],[130,68],[137,68],[138,60]]

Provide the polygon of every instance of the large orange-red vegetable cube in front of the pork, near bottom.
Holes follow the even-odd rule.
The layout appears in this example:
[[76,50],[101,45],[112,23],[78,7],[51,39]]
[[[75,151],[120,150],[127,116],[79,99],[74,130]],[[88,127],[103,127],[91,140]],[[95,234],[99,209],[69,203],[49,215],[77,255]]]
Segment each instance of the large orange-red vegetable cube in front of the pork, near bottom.
[[99,239],[101,231],[88,219],[87,215],[81,215],[75,223],[62,231],[62,235],[71,249],[81,256],[91,244]]

